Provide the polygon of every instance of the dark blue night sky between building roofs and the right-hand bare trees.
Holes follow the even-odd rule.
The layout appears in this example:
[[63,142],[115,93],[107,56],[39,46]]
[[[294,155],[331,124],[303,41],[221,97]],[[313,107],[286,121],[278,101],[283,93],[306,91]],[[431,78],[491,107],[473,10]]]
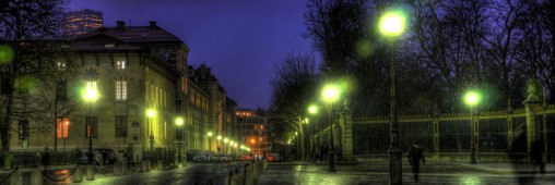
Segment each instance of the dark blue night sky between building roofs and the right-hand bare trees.
[[189,46],[189,65],[212,67],[239,108],[268,109],[276,64],[314,52],[302,36],[306,0],[72,0],[78,9],[104,12],[105,26],[156,21]]

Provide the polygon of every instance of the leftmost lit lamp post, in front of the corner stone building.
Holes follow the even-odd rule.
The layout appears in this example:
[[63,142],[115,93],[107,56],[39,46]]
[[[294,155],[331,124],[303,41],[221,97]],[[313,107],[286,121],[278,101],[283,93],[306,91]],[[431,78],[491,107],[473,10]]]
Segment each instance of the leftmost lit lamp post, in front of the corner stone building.
[[97,73],[94,72],[94,71],[87,71],[86,72],[86,78],[87,78],[87,82],[86,82],[86,87],[85,87],[85,91],[84,91],[84,95],[83,95],[83,99],[88,102],[88,122],[87,122],[87,134],[88,134],[88,162],[92,163],[93,162],[93,115],[91,113],[91,110],[92,110],[92,103],[95,102],[97,99],[98,99],[98,91],[97,91],[97,88],[96,88],[96,78],[97,78]]

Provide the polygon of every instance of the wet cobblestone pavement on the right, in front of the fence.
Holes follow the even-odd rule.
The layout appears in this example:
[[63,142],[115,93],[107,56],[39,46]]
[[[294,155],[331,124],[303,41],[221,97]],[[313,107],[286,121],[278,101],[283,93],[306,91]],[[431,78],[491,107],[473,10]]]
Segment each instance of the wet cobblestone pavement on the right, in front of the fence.
[[[499,175],[475,172],[456,165],[424,164],[420,183],[414,183],[410,166],[403,166],[403,184],[518,184],[517,175]],[[328,172],[327,165],[270,165],[258,180],[257,184],[292,184],[292,185],[351,185],[351,184],[388,184],[387,164],[338,165],[338,172]],[[527,184],[554,184],[554,174],[522,175]]]

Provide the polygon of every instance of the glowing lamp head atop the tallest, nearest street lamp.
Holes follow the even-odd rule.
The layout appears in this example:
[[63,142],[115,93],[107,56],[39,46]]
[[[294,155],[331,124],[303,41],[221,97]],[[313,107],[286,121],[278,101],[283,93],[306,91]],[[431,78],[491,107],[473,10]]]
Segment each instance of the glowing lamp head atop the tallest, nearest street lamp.
[[404,29],[405,16],[401,11],[390,11],[379,21],[380,33],[386,36],[399,36]]

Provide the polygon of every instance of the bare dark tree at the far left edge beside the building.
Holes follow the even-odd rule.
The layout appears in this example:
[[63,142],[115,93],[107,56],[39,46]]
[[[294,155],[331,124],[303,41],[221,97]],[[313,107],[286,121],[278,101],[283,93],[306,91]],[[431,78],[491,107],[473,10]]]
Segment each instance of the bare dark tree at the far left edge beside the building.
[[[2,149],[10,149],[10,132],[13,115],[20,106],[20,95],[28,92],[32,85],[23,85],[25,78],[40,79],[36,76],[44,67],[52,67],[46,59],[54,58],[51,41],[60,36],[62,26],[63,0],[7,0],[0,10],[0,40],[10,48],[13,58],[0,63],[2,71],[2,111],[0,134]],[[28,88],[27,88],[28,87]],[[27,89],[25,89],[27,88]],[[20,111],[21,112],[21,111]]]

